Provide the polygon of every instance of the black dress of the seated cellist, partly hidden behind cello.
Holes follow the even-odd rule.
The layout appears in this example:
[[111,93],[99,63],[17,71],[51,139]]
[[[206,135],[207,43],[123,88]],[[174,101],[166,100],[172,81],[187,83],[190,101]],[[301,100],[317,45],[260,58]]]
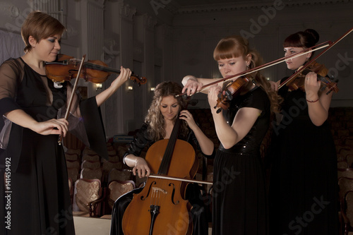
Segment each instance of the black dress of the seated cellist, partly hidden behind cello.
[[[129,154],[140,156],[140,153],[145,148],[145,146],[150,147],[153,143],[153,140],[150,140],[150,137],[147,133],[148,124],[143,123],[143,126],[140,128],[138,133],[136,133],[136,138],[131,142],[128,147],[128,151],[125,153],[124,157]],[[191,145],[199,148],[198,141],[196,136],[193,134],[193,131],[189,130],[189,135],[182,138],[181,140],[186,140],[191,143]],[[213,153],[214,154],[214,153]],[[205,157],[212,158],[213,155],[205,155]],[[128,204],[131,202],[134,193],[140,193],[143,188],[136,188],[133,191],[121,195],[115,203],[112,210],[112,226],[110,229],[111,235],[123,235],[123,230],[121,227],[121,221],[124,216],[124,212]],[[193,206],[191,209],[191,216],[193,217],[193,234],[195,235],[208,235],[208,220],[207,220],[207,211],[205,210],[205,205],[203,202],[203,195],[201,191],[203,188],[198,186],[197,183],[189,183],[186,188],[186,200],[189,200],[189,203]]]

